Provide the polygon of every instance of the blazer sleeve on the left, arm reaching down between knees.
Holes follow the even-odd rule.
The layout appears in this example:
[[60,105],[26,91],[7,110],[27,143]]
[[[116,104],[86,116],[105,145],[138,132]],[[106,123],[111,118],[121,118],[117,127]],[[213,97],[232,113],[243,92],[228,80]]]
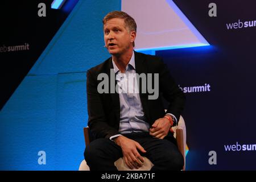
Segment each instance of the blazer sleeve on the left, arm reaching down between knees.
[[86,73],[88,126],[93,138],[110,138],[119,132],[108,125],[100,93],[97,92],[97,75],[90,70]]

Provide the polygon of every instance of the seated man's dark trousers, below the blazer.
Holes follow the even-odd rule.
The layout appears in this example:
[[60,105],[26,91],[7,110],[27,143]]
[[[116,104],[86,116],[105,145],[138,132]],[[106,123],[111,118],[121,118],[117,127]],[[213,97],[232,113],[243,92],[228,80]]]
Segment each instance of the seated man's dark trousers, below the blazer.
[[[184,165],[183,156],[179,152],[176,139],[167,136],[164,139],[153,138],[149,133],[123,134],[125,137],[137,141],[147,152],[146,156],[154,166],[151,170],[181,170]],[[86,146],[84,158],[90,170],[116,171],[114,162],[123,156],[122,149],[112,140],[100,138],[93,140]]]

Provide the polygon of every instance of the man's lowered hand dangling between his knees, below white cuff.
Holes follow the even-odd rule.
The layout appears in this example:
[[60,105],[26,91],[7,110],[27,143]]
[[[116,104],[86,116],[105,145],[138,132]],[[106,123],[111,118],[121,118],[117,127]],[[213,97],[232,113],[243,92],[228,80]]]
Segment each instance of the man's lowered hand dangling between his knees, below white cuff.
[[144,159],[139,154],[137,148],[143,153],[146,153],[146,151],[138,142],[122,135],[115,138],[114,142],[122,148],[123,159],[130,169],[142,167]]

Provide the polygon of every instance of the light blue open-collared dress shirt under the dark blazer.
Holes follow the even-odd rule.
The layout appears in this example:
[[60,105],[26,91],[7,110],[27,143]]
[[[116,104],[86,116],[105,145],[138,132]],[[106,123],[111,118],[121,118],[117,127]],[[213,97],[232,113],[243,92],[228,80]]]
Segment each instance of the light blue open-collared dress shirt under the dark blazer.
[[[115,80],[117,80],[120,101],[119,133],[149,132],[150,125],[146,122],[138,92],[134,52],[129,64],[126,66],[125,73],[119,71],[113,60],[112,63],[115,72]],[[114,135],[110,137],[110,139],[118,136],[119,134]]]

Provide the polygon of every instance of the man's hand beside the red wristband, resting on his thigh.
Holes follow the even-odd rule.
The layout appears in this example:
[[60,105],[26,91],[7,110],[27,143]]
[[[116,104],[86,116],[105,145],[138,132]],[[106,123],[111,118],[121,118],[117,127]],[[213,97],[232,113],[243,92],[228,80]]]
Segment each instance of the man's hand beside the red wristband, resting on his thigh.
[[150,128],[150,135],[163,139],[168,134],[170,127],[171,123],[167,118],[157,119]]

